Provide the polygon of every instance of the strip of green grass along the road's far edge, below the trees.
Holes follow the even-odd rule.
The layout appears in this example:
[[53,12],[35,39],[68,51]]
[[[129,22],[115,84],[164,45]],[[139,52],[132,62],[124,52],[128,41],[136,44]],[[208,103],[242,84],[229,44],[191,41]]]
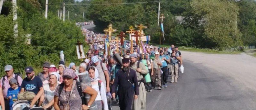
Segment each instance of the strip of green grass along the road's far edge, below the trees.
[[[153,45],[153,44],[151,44]],[[154,44],[156,45],[156,44]],[[156,45],[159,46],[159,45]],[[170,47],[169,45],[166,44],[161,44],[161,47]],[[211,54],[240,54],[242,51],[219,51],[219,50],[214,50],[214,49],[200,49],[200,48],[194,48],[194,47],[185,47],[185,46],[180,46],[179,50],[181,51],[193,51],[193,52],[204,52],[204,53],[211,53]]]

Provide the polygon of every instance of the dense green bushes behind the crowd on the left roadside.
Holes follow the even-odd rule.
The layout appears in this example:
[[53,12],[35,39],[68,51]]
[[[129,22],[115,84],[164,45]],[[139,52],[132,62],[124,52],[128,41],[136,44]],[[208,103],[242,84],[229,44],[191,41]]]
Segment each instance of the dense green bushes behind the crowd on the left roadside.
[[[26,66],[40,67],[44,61],[58,64],[61,50],[66,62],[79,62],[74,43],[77,39],[84,42],[84,37],[75,22],[63,22],[50,13],[47,20],[40,13],[33,14],[28,21],[18,19],[18,26],[20,22],[27,23],[19,26],[18,37],[14,38],[12,15],[0,16],[0,76],[5,75],[4,66],[8,64],[14,72],[23,72]],[[31,34],[31,45],[26,44],[26,34]]]

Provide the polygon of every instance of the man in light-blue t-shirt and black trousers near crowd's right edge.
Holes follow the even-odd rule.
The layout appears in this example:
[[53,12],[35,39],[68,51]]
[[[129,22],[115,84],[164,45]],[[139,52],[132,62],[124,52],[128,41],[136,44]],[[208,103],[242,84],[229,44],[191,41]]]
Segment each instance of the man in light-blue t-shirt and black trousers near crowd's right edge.
[[161,83],[163,88],[163,87],[167,87],[167,80],[168,80],[167,62],[170,62],[170,59],[166,55],[164,55],[163,50],[160,50],[159,60],[162,63],[161,70],[163,71],[163,74],[161,75]]

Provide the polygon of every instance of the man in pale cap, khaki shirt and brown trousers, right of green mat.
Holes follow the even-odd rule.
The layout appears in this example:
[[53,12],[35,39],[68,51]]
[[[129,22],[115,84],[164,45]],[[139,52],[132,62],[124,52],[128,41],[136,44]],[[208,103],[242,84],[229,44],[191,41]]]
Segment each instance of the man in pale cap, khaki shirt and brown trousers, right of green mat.
[[161,73],[160,69],[162,66],[162,63],[159,60],[159,52],[155,52],[155,60],[153,61],[153,87],[156,88],[156,78],[157,78],[157,84],[158,84],[158,90],[161,90]]

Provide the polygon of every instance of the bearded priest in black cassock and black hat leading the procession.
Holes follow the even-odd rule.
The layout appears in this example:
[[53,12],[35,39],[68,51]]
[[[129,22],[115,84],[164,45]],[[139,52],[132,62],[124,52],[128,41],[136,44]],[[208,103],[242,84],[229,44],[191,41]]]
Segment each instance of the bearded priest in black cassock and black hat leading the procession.
[[[112,97],[116,96],[118,86],[118,98],[120,110],[132,110],[132,100],[139,95],[139,85],[136,71],[129,67],[130,59],[122,59],[123,68],[117,71],[113,86]],[[135,92],[135,95],[134,95]]]

